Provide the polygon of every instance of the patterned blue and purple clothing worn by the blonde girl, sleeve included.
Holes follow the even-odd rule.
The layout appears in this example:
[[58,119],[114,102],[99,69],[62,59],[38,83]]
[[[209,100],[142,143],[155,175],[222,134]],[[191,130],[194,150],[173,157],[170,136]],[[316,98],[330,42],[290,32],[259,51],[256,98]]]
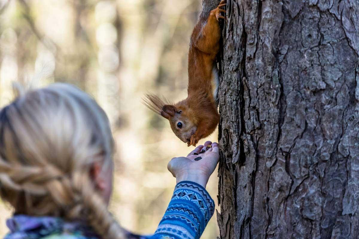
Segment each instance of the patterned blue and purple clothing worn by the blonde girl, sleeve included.
[[[130,232],[127,239],[198,239],[214,212],[214,201],[201,185],[179,182],[157,230],[151,236]],[[6,221],[10,229],[4,239],[99,239],[81,222],[54,217],[15,215]]]

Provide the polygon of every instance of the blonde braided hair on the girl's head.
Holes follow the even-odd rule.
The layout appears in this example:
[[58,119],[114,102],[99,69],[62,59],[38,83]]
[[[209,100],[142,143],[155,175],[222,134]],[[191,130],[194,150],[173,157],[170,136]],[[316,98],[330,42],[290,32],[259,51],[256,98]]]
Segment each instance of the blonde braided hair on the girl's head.
[[15,213],[85,219],[103,238],[122,239],[90,178],[112,153],[107,116],[89,95],[65,83],[26,92],[0,111],[0,196]]

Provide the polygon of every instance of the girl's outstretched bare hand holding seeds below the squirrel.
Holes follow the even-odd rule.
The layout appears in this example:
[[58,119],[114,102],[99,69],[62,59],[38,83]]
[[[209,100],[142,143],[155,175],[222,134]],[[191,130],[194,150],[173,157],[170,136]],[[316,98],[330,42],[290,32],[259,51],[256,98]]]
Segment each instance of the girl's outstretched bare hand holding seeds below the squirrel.
[[[207,147],[211,145],[211,147]],[[206,187],[209,177],[219,161],[218,143],[207,141],[197,146],[187,157],[172,158],[167,168],[177,183],[192,181]]]

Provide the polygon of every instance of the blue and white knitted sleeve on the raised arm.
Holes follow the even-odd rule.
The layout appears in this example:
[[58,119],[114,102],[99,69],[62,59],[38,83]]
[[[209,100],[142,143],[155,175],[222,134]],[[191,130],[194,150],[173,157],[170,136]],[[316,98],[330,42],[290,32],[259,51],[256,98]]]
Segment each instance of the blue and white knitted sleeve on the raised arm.
[[198,239],[213,212],[214,201],[204,187],[195,182],[179,182],[155,234],[149,239]]

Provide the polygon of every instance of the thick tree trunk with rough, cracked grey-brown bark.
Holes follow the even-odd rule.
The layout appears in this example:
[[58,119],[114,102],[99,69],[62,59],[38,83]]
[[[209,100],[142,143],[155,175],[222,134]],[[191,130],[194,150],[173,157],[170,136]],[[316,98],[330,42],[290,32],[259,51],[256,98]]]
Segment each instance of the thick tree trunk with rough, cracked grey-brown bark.
[[358,0],[228,0],[221,239],[359,238]]

